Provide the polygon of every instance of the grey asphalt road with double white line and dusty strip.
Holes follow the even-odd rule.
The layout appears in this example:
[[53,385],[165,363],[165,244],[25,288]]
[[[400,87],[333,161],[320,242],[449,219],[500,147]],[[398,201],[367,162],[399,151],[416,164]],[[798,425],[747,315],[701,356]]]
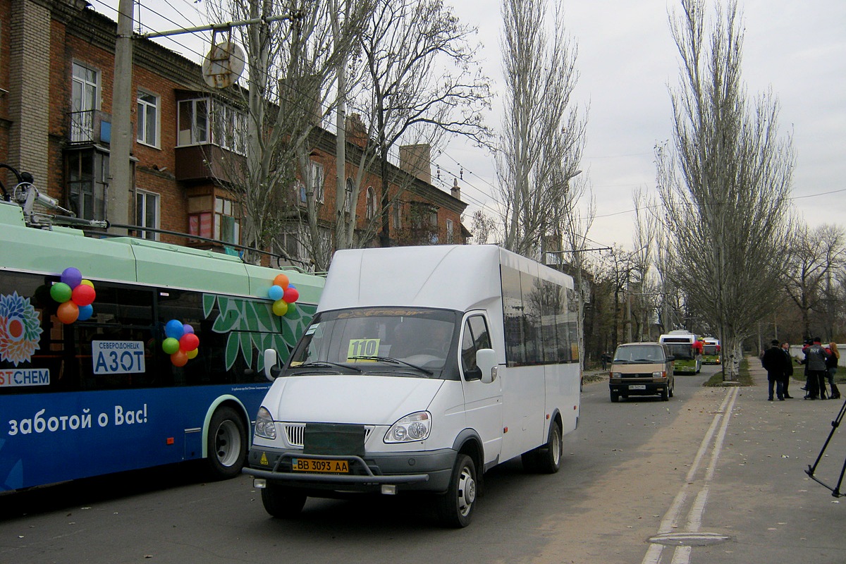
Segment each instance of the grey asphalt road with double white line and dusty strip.
[[[804,472],[843,404],[768,402],[762,375],[703,388],[713,370],[678,376],[669,402],[586,384],[561,472],[495,468],[468,528],[401,496],[272,519],[248,477],[205,483],[187,464],[0,496],[0,562],[846,562],[846,501]],[[843,433],[818,468],[832,483]]]

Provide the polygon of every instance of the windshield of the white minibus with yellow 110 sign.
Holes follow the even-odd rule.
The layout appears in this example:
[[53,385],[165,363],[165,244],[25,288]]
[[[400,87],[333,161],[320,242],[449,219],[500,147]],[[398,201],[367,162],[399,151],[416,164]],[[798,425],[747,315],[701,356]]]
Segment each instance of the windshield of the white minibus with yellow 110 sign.
[[[319,364],[356,372],[421,377],[444,369],[454,350],[458,312],[427,308],[355,308],[316,315],[288,362],[296,374]],[[454,356],[454,355],[453,355]]]

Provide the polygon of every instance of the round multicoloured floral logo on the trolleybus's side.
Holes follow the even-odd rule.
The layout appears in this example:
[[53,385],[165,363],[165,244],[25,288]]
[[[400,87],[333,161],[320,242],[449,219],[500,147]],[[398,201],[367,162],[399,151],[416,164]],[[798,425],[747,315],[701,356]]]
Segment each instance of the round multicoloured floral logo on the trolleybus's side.
[[0,295],[0,360],[17,366],[32,358],[41,340],[41,324],[30,298]]

